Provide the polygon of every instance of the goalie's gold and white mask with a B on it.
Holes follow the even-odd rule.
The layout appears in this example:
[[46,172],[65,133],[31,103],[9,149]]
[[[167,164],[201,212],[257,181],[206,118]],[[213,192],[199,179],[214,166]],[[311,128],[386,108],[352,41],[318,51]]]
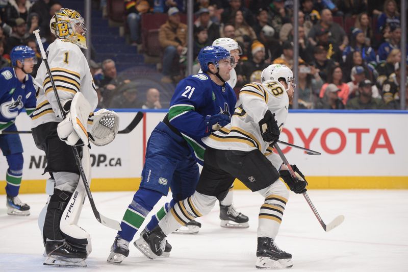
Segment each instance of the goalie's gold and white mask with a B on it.
[[56,37],[68,40],[87,49],[84,18],[71,9],[60,9],[49,22],[49,29]]

